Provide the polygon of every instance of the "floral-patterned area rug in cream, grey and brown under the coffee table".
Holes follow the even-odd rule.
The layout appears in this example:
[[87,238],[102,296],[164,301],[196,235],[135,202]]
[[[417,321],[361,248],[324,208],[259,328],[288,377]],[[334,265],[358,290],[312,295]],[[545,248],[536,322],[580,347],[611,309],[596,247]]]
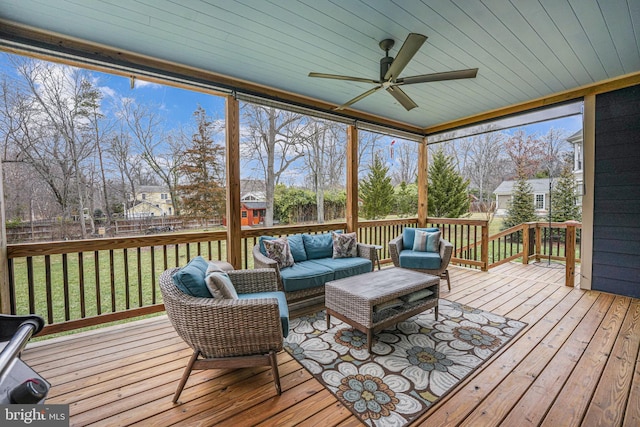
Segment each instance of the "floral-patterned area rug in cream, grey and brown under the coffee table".
[[367,337],[325,312],[291,321],[285,349],[363,423],[403,426],[489,359],[526,323],[441,299]]

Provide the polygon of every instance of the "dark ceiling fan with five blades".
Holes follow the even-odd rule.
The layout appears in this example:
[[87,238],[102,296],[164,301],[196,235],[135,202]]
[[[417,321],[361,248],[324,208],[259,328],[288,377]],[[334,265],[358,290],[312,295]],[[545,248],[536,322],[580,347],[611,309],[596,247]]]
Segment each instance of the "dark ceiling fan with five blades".
[[438,82],[442,80],[456,80],[456,79],[470,79],[474,78],[478,73],[477,68],[470,68],[468,70],[456,70],[445,71],[443,73],[431,73],[421,74],[419,76],[402,77],[398,76],[407,66],[409,61],[418,52],[422,44],[427,40],[427,36],[422,34],[410,33],[402,47],[398,51],[395,59],[389,56],[389,50],[393,47],[395,42],[392,39],[385,39],[380,42],[380,48],[385,51],[385,56],[380,60],[380,79],[373,80],[363,77],[350,77],[341,76],[337,74],[324,74],[324,73],[309,73],[309,77],[320,77],[323,79],[336,79],[336,80],[349,80],[354,82],[373,83],[376,85],[373,89],[356,96],[355,98],[345,102],[344,104],[336,107],[336,110],[343,110],[352,104],[360,101],[361,99],[379,91],[385,89],[389,92],[407,111],[418,105],[413,102],[409,95],[407,95],[400,86],[411,85],[415,83],[427,83]]

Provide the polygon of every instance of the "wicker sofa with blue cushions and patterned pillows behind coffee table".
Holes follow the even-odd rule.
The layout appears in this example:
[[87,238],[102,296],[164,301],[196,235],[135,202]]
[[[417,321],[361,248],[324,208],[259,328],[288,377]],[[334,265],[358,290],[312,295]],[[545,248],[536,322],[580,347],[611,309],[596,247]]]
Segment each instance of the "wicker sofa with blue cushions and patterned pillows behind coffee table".
[[278,263],[266,255],[264,240],[275,239],[261,236],[253,247],[254,268],[272,268],[278,273],[279,289],[284,291],[288,302],[297,302],[316,296],[324,296],[324,284],[373,270],[376,249],[373,245],[358,243],[358,256],[333,258],[331,233],[295,234],[287,236],[294,265],[280,268]]

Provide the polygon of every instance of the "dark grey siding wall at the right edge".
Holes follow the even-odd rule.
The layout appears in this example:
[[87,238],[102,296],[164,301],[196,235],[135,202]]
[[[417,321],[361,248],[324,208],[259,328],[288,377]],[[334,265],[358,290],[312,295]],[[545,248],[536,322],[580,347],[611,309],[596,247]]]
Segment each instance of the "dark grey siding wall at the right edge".
[[596,98],[592,288],[640,297],[640,86]]

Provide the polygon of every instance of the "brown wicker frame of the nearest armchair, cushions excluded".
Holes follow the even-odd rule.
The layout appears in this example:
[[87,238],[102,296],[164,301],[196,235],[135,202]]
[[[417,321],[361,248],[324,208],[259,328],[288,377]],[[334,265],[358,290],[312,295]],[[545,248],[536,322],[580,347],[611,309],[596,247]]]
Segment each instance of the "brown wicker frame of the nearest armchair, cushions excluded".
[[[177,270],[172,268],[160,275],[160,291],[169,320],[193,348],[193,355],[173,402],[178,401],[193,369],[271,366],[280,394],[276,352],[283,348],[284,335],[278,300],[260,295],[237,300],[192,297],[175,286],[172,276]],[[272,269],[234,270],[227,274],[238,295],[277,291]]]

